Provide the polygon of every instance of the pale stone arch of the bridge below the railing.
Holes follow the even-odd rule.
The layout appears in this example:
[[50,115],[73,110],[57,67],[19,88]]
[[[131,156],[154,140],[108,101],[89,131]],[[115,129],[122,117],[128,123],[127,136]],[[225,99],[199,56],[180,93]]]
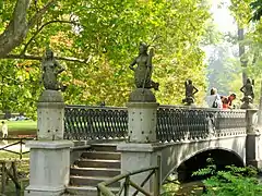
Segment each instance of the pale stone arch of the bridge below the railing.
[[[174,143],[167,145],[162,149],[162,182],[171,173],[175,173],[177,169],[181,169],[181,166],[190,162],[190,160],[194,158],[198,160],[202,159],[202,162],[206,163],[209,154],[214,154],[213,157],[218,160],[218,163],[221,163],[219,161],[225,162],[226,157],[228,162],[225,162],[224,166],[235,164],[242,167],[246,164],[246,135],[235,138],[227,137],[199,143]],[[196,170],[198,169],[199,168],[196,168]]]

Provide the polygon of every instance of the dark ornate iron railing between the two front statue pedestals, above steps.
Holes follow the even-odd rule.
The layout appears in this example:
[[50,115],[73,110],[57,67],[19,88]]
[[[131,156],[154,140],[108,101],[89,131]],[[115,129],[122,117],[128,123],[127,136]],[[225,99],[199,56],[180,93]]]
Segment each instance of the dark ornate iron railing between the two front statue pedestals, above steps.
[[126,108],[67,106],[64,109],[67,139],[124,138],[127,133]]

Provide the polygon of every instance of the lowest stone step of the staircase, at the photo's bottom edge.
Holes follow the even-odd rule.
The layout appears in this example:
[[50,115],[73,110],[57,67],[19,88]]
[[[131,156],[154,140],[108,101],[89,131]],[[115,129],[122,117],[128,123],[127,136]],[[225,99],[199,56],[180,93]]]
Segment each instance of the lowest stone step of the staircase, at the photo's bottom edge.
[[[110,191],[115,194],[119,192],[118,187],[109,187]],[[79,196],[97,196],[97,188],[94,186],[68,186],[67,192],[70,195],[79,195]]]

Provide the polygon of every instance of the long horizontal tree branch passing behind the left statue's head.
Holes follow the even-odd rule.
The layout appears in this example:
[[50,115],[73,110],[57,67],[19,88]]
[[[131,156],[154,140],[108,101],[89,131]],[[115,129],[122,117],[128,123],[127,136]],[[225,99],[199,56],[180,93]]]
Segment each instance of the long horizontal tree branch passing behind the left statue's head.
[[[10,53],[5,56],[3,59],[26,59],[26,60],[35,60],[35,61],[41,61],[43,57],[38,56],[31,56],[31,54],[15,54],[15,53]],[[71,57],[56,57],[57,60],[63,60],[63,61],[70,61],[70,62],[79,62],[79,63],[90,63],[92,57],[88,59],[76,59],[76,58],[71,58]]]

